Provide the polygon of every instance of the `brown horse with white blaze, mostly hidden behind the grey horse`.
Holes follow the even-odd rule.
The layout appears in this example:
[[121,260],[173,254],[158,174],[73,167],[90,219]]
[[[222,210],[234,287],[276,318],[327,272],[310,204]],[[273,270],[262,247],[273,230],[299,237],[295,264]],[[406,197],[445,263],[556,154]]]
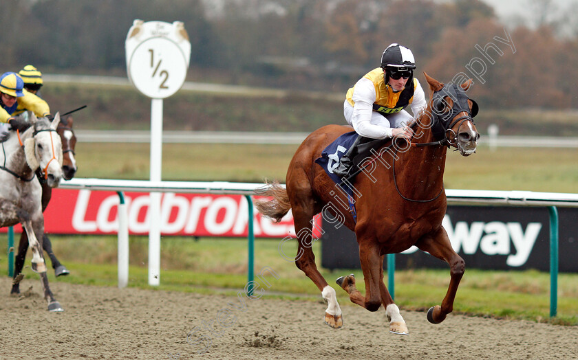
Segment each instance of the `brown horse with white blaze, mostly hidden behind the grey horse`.
[[[65,180],[70,180],[76,174],[76,158],[74,157],[74,149],[76,148],[76,135],[72,126],[74,125],[74,120],[72,116],[61,117],[58,126],[56,127],[56,133],[61,138],[62,142],[62,176]],[[41,177],[39,177],[41,179]],[[41,181],[42,186],[42,212],[46,210],[50,199],[52,198],[52,188],[45,182]],[[69,271],[64,265],[56,258],[54,251],[52,251],[52,244],[50,243],[50,238],[44,234],[42,241],[42,248],[48,254],[50,262],[52,262],[52,267],[54,268],[54,274],[58,276],[68,275]],[[24,267],[24,261],[26,258],[26,252],[28,251],[28,235],[26,232],[22,232],[20,235],[20,243],[18,247],[18,254],[14,261],[14,282],[12,284],[12,290],[10,293],[18,294],[20,293],[20,281],[21,276],[19,274],[22,272]]]

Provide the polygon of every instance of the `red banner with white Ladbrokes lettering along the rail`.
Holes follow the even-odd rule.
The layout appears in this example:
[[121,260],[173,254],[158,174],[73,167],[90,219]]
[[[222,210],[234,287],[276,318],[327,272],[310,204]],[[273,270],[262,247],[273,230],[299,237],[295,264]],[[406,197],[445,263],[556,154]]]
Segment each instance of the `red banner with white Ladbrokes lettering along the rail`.
[[[47,234],[117,234],[116,192],[90,190],[52,190],[52,201],[45,216]],[[149,194],[125,193],[130,234],[149,233]],[[174,194],[161,198],[160,230],[163,235],[233,236],[248,233],[248,204],[241,195]],[[1,231],[6,232],[7,228]],[[21,232],[21,227],[14,227]],[[295,236],[291,212],[274,224],[255,212],[255,236],[284,238]],[[318,234],[320,236],[320,234]]]

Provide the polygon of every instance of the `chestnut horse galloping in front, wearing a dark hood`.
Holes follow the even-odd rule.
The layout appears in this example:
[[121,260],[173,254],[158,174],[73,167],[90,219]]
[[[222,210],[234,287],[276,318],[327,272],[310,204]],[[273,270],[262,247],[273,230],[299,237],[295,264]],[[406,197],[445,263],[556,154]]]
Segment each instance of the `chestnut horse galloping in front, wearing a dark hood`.
[[[298,249],[295,264],[317,285],[328,302],[325,322],[341,328],[343,318],[335,290],[317,270],[312,251],[312,218],[321,212],[325,226],[341,223],[352,229],[357,238],[361,269],[365,280],[365,296],[356,289],[353,275],[341,277],[337,284],[350,295],[350,300],[369,311],[383,304],[389,320],[389,331],[407,335],[409,331],[399,308],[383,282],[385,254],[399,253],[415,245],[445,260],[451,280],[441,306],[429,309],[427,319],[442,322],[453,310],[458,284],[464,274],[464,260],[456,254],[442,219],[446,212],[443,175],[447,149],[452,146],[463,156],[475,152],[480,135],[472,117],[478,105],[465,93],[472,84],[445,86],[425,74],[431,93],[427,109],[413,124],[412,146],[405,139],[394,139],[372,150],[361,164],[362,173],[351,182],[351,201],[334,184],[315,160],[337,137],[352,131],[349,126],[328,125],[311,133],[299,146],[287,171],[286,189],[270,183],[260,195],[273,199],[255,201],[257,210],[275,221],[292,209]],[[326,244],[325,246],[328,246]]]

